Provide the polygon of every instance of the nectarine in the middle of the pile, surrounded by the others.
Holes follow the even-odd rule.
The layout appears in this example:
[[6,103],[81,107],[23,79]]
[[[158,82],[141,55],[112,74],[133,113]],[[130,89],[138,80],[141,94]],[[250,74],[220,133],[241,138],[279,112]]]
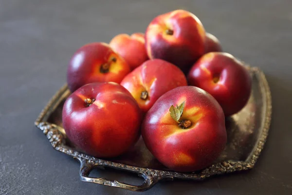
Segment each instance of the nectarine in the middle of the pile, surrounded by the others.
[[[167,91],[186,86],[183,72],[175,65],[162,59],[149,59],[128,74],[121,82],[146,113],[155,101]],[[148,92],[146,100],[141,99],[142,91]]]

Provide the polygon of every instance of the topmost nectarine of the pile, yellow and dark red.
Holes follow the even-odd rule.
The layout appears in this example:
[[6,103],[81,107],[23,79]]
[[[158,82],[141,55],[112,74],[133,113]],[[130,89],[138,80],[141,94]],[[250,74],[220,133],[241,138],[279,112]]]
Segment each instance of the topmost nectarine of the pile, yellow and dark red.
[[[173,30],[167,35],[166,30]],[[205,30],[201,21],[192,13],[175,10],[157,16],[145,33],[149,59],[164,59],[183,71],[205,52]]]

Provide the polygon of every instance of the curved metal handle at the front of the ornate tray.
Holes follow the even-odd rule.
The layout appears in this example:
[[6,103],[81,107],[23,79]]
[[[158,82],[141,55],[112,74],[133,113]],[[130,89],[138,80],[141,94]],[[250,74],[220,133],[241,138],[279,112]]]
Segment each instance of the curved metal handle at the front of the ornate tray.
[[127,183],[119,182],[117,180],[110,180],[107,178],[102,177],[90,177],[89,174],[92,171],[94,167],[98,167],[98,165],[93,165],[91,163],[88,163],[86,159],[80,159],[80,180],[85,182],[91,182],[91,183],[97,183],[117,188],[122,188],[126,190],[136,191],[136,192],[143,192],[151,187],[153,187],[159,180],[162,178],[158,178],[156,176],[153,176],[152,174],[147,173],[138,173],[138,176],[143,177],[144,181],[138,185],[130,185]]

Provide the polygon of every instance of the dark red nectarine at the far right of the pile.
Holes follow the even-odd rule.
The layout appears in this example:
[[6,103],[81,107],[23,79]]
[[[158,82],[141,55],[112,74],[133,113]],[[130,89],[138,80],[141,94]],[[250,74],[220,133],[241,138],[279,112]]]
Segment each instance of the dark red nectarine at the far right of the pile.
[[[251,94],[251,76],[243,64],[228,53],[205,54],[193,65],[187,78],[189,85],[210,93],[225,116],[239,112]],[[214,78],[219,78],[218,82],[214,82]]]

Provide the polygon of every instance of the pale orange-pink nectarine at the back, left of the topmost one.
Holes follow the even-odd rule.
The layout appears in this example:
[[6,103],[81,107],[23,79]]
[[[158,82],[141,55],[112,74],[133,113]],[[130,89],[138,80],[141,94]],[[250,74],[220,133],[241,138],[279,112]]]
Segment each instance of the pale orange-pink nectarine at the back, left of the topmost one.
[[148,59],[143,33],[117,35],[111,39],[110,47],[128,62],[132,70]]

